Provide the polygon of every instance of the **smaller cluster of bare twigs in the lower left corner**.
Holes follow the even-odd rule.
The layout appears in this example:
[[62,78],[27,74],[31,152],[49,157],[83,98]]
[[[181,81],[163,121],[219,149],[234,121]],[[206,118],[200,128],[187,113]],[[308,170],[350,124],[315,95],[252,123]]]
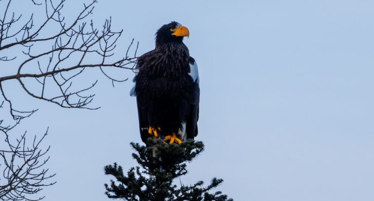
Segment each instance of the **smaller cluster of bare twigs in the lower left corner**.
[[[49,169],[44,168],[49,157],[45,156],[46,150],[40,148],[40,143],[47,135],[37,139],[35,136],[32,144],[28,146],[26,132],[15,142],[11,142],[8,132],[1,130],[6,136],[7,148],[1,148],[0,160],[3,182],[0,183],[0,200],[2,201],[39,201],[44,197],[32,198],[44,186],[53,185],[56,182],[46,183],[46,180],[55,176],[48,174]],[[0,180],[1,181],[1,180]]]

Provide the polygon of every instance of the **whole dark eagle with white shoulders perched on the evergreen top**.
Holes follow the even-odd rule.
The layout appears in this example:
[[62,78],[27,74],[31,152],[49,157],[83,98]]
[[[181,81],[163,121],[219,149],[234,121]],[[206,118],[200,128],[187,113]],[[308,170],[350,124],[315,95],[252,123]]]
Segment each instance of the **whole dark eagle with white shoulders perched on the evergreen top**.
[[138,58],[130,94],[143,142],[154,136],[180,144],[197,136],[199,73],[183,37],[189,37],[187,27],[165,24],[156,32],[155,49]]

